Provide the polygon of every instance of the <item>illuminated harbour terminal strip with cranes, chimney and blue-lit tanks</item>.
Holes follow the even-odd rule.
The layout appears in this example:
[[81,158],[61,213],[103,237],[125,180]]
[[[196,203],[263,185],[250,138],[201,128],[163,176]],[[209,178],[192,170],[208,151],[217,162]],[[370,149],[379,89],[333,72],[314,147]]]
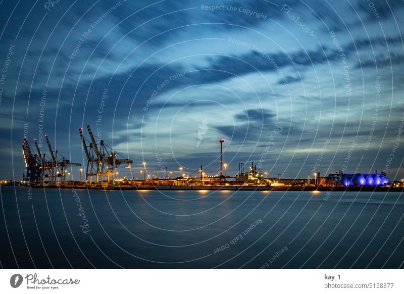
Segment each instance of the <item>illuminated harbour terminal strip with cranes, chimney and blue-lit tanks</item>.
[[[127,189],[259,189],[271,190],[282,188],[319,189],[321,187],[389,187],[390,181],[385,173],[344,173],[336,171],[334,174],[322,177],[319,172],[308,174],[306,179],[284,179],[280,174],[277,177],[268,177],[268,172],[257,169],[254,162],[244,171],[244,163],[239,163],[238,173],[235,176],[227,175],[227,164],[223,163],[223,143],[220,139],[220,169],[217,174],[204,172],[203,166],[195,169],[190,174],[182,173],[179,168],[176,172],[169,171],[166,166],[162,169],[163,176],[156,174],[146,175],[146,163],[140,170],[140,178],[127,178],[118,176],[118,167],[131,168],[133,160],[125,158],[112,149],[104,140],[97,141],[87,126],[88,139],[83,134],[83,128],[79,129],[79,135],[85,154],[86,163],[80,168],[79,180],[70,179],[71,167],[81,163],[73,163],[53,148],[47,135],[46,145],[48,156],[41,152],[36,139],[34,139],[36,152],[30,149],[28,140],[24,137],[22,154],[25,162],[23,180],[19,184],[41,187],[83,187],[83,188],[127,188]],[[69,172],[70,170],[70,172]],[[73,178],[73,176],[72,176]],[[394,184],[394,183],[393,183]],[[393,185],[397,186],[397,185]],[[309,188],[309,189],[310,189]]]

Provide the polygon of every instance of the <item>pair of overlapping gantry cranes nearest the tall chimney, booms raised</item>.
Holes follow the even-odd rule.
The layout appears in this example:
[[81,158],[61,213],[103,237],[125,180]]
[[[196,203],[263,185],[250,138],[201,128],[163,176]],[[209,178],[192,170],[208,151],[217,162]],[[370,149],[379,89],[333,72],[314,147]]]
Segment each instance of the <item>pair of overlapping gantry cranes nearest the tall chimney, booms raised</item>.
[[[79,129],[81,142],[83,144],[84,153],[87,158],[85,170],[85,180],[90,185],[95,182],[96,185],[113,185],[115,184],[116,168],[125,163],[126,168],[130,168],[132,160],[122,157],[119,153],[108,146],[104,140],[96,143],[90,126],[87,126],[87,131],[90,136],[90,143],[87,146],[86,139],[83,135],[83,128]],[[122,158],[117,158],[117,155]],[[93,177],[95,181],[93,181]]]

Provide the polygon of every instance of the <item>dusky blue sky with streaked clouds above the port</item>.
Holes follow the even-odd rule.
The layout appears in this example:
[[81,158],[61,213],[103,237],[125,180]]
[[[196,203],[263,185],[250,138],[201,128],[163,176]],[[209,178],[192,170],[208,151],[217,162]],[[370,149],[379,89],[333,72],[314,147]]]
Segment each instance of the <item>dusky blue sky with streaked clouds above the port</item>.
[[402,1],[0,8],[1,177],[22,176],[24,124],[30,143],[42,124],[61,154],[83,163],[78,128],[96,133],[99,115],[101,137],[134,161],[122,175],[139,177],[143,161],[150,174],[200,164],[218,173],[225,138],[228,174],[261,159],[270,176],[306,178],[349,156],[347,172],[404,177]]

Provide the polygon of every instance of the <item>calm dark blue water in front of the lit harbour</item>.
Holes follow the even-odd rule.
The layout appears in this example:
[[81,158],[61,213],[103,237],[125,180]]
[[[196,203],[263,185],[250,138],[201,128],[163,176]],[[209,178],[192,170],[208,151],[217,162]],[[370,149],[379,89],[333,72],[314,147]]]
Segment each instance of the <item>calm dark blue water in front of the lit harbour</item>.
[[3,268],[403,268],[399,192],[0,190]]

